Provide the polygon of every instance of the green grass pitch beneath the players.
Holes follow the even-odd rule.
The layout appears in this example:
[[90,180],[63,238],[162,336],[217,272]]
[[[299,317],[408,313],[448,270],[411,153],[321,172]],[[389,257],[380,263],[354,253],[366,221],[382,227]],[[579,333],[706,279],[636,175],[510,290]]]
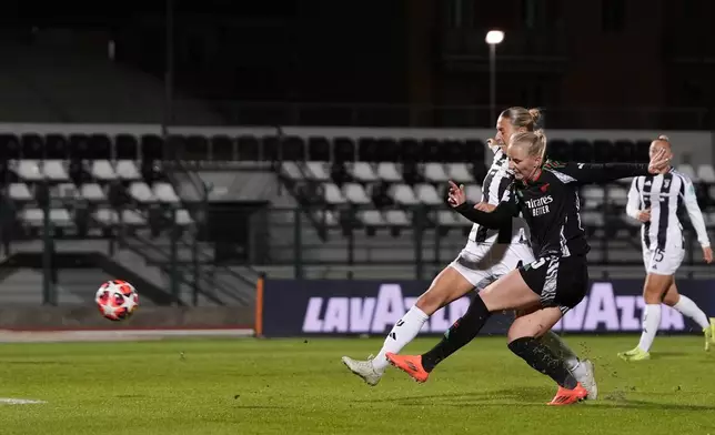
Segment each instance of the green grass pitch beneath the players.
[[[340,362],[382,340],[167,340],[0,345],[0,434],[713,434],[715,352],[658,337],[653,360],[616,352],[636,336],[567,336],[596,363],[601,397],[545,403],[556,388],[479,337],[420,385],[390,367],[369,387]],[[405,352],[427,350],[421,338]]]

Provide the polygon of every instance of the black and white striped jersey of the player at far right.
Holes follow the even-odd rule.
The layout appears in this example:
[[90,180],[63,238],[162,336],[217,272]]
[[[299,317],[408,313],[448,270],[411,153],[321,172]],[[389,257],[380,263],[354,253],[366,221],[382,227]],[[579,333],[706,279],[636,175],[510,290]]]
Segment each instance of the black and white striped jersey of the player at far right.
[[637,219],[641,210],[651,210],[651,221],[643,223],[643,247],[666,250],[668,245],[683,246],[683,225],[678,212],[687,210],[697,232],[697,241],[709,246],[703,213],[697,205],[693,182],[682,172],[671,169],[658,175],[636,176],[631,183],[626,213]]

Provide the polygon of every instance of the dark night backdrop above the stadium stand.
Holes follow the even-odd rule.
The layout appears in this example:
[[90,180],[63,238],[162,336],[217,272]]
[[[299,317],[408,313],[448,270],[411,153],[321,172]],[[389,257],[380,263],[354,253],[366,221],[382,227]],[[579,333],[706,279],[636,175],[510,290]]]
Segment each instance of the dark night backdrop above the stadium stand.
[[[715,100],[712,0],[268,0],[12,3],[4,38],[74,29],[115,41],[117,60],[163,78],[173,13],[174,88],[232,102],[489,104],[696,113]],[[686,110],[687,109],[687,110]],[[612,114],[611,114],[612,115]],[[667,128],[711,127],[689,115]],[[671,125],[674,124],[674,125]]]

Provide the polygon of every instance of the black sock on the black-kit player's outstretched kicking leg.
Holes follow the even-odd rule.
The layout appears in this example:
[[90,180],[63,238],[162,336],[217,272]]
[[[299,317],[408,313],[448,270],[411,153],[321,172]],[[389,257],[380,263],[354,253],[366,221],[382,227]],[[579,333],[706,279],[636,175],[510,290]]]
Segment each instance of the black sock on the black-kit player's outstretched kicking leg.
[[491,315],[482,297],[475,295],[466,313],[444,333],[442,341],[430,352],[422,354],[422,367],[432,372],[442,360],[471,342]]

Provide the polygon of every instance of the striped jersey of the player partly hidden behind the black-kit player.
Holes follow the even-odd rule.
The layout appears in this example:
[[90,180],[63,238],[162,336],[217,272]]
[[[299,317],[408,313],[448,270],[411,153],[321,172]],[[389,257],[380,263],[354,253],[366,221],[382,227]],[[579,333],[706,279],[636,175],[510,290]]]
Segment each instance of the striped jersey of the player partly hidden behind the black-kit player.
[[[508,158],[499,145],[490,145],[494,152],[494,160],[490,166],[484,182],[482,183],[482,202],[497,205],[504,192],[514,181],[514,176],[508,171]],[[511,234],[510,234],[511,233]],[[528,241],[528,227],[522,218],[514,218],[511,227],[503,230],[490,230],[479,223],[472,225],[470,241],[475,243],[526,243]]]

